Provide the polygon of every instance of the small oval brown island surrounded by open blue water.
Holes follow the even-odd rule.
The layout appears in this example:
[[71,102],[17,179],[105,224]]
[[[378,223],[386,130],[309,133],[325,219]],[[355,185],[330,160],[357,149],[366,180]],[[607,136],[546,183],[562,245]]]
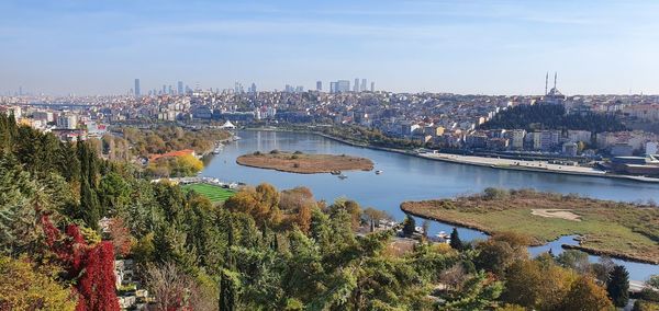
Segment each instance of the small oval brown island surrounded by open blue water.
[[268,153],[243,154],[236,163],[245,166],[277,170],[299,174],[331,173],[342,171],[370,171],[373,162],[366,158],[347,154],[316,154],[300,151],[272,150]]

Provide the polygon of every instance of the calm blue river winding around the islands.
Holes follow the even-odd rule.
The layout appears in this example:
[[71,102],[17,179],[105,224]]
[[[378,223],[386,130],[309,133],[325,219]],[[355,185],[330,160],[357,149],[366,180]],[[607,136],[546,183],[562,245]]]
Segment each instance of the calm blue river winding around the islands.
[[[279,189],[306,186],[316,199],[331,203],[336,198],[347,197],[357,200],[362,207],[387,210],[399,220],[404,217],[400,210],[402,201],[469,195],[480,193],[487,187],[526,187],[625,201],[646,201],[656,199],[659,195],[659,184],[447,163],[354,147],[313,134],[244,130],[237,135],[242,139],[226,145],[220,154],[214,156],[202,172],[203,176],[253,185],[267,182]],[[339,180],[331,174],[293,174],[242,166],[235,162],[241,154],[256,150],[268,152],[272,149],[365,157],[371,159],[376,170],[382,170],[383,173],[377,175],[372,171],[344,172],[348,178]],[[417,223],[421,223],[421,220]],[[433,221],[429,233],[450,232],[451,229],[451,226]],[[458,231],[466,241],[487,238],[476,230],[459,228]],[[572,237],[563,237],[546,246],[530,247],[530,252],[535,254],[552,247],[552,252],[558,254],[562,250],[562,243],[576,242]],[[591,260],[596,261],[597,257],[591,256]],[[644,280],[649,275],[659,274],[659,265],[618,260],[616,262],[627,267],[632,279]]]

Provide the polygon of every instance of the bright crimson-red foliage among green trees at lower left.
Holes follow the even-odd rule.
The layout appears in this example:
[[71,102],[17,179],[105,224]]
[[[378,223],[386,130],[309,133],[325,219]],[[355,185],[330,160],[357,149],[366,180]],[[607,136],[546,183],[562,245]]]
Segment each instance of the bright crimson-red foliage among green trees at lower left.
[[77,311],[119,310],[114,278],[114,246],[110,242],[88,245],[78,226],[69,224],[66,235],[42,216],[46,243],[67,268],[68,277],[77,277]]

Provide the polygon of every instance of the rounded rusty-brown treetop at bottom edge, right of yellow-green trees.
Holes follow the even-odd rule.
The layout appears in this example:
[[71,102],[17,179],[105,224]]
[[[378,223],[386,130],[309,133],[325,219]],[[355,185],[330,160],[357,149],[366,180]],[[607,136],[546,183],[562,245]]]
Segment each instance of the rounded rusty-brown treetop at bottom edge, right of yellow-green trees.
[[590,276],[580,276],[561,303],[561,310],[602,311],[612,310],[613,304],[606,290],[597,286]]

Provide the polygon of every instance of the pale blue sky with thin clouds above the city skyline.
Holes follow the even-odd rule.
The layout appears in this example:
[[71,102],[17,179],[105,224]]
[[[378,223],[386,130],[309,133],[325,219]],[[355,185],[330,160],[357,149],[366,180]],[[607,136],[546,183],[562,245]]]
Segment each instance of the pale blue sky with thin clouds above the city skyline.
[[[365,78],[377,90],[659,94],[659,1],[0,1],[0,94]],[[551,85],[550,85],[551,88]]]

